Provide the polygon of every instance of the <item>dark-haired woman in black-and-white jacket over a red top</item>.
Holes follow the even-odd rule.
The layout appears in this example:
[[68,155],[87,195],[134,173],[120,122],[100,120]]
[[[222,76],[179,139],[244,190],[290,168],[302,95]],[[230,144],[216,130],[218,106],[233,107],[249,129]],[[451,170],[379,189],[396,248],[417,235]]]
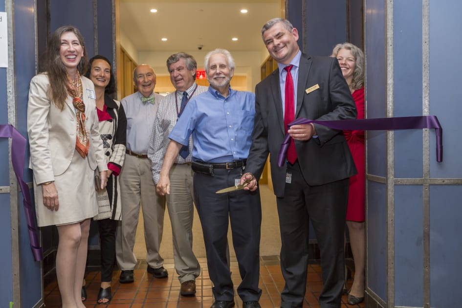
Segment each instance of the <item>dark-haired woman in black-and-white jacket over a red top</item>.
[[[120,186],[117,176],[125,158],[127,118],[120,102],[109,96],[115,90],[110,61],[96,55],[90,59],[89,64],[90,69],[86,76],[95,86],[99,131],[108,163],[108,185],[106,189],[97,192],[98,215],[94,217],[98,222],[101,244],[101,287],[98,304],[106,304],[112,295],[110,283],[115,260],[115,232],[117,220],[121,219]],[[85,291],[83,288],[82,298],[87,297]]]

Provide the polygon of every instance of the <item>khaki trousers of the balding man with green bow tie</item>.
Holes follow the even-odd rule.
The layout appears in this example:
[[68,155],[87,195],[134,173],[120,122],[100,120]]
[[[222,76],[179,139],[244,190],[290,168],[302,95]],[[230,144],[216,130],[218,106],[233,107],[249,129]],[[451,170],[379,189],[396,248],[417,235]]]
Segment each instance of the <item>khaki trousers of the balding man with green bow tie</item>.
[[159,268],[164,261],[159,255],[159,246],[162,241],[165,198],[155,193],[151,161],[148,158],[126,154],[119,177],[122,221],[117,228],[116,236],[117,265],[121,270],[134,269],[136,266],[133,246],[141,206],[148,251],[146,261],[149,266]]

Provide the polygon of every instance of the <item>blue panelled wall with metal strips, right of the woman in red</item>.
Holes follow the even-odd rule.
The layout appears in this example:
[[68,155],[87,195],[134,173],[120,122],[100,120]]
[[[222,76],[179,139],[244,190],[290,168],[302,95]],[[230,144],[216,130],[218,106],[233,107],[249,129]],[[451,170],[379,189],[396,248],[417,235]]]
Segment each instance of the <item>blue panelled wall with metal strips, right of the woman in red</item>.
[[[423,58],[422,1],[393,1],[393,75],[387,75],[385,41],[385,0],[366,0],[366,57],[367,57],[367,117],[386,116],[387,77],[393,77],[394,116],[422,115],[423,113]],[[436,162],[435,135],[430,133],[430,177],[462,178],[459,115],[462,114],[460,96],[461,57],[457,50],[462,45],[462,21],[458,12],[459,0],[430,0],[430,111],[437,115],[443,128],[444,161]],[[453,55],[453,53],[456,54]],[[392,90],[392,89],[391,89]],[[420,130],[396,131],[394,140],[395,178],[423,178],[423,137]],[[368,174],[386,176],[386,133],[367,133]],[[393,183],[390,183],[392,185]],[[382,300],[387,300],[386,278],[380,266],[386,268],[386,257],[394,254],[395,298],[399,307],[424,305],[424,251],[422,185],[395,185],[394,231],[391,239],[394,250],[383,255],[386,241],[388,210],[377,208],[375,202],[386,199],[377,189],[382,184],[368,182],[368,287]],[[385,184],[383,184],[386,187]],[[430,299],[431,307],[458,307],[462,269],[462,234],[460,199],[462,185],[430,186]],[[386,202],[383,204],[386,207]],[[382,217],[377,219],[377,217]],[[392,247],[393,248],[393,247]],[[377,268],[378,266],[378,268]],[[385,273],[386,273],[385,271]],[[378,279],[376,276],[379,275]],[[412,283],[409,283],[412,282]]]

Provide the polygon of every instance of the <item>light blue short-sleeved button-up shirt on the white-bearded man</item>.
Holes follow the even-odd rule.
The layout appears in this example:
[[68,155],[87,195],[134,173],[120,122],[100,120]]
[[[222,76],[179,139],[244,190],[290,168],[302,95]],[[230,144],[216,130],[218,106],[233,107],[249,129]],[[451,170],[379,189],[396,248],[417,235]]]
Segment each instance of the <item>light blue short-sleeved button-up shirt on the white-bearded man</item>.
[[169,138],[182,145],[193,135],[193,160],[227,162],[246,159],[255,116],[255,94],[229,88],[223,97],[212,87],[192,98]]

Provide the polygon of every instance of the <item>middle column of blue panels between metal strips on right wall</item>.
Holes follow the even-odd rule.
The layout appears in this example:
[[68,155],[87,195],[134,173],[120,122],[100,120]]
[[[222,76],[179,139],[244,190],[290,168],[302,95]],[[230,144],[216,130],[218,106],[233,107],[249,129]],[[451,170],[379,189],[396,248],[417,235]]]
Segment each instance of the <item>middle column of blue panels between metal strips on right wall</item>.
[[[422,1],[394,1],[393,12],[394,116],[422,115]],[[423,177],[422,149],[421,130],[395,132],[395,177]],[[396,306],[423,307],[422,194],[395,186]]]

